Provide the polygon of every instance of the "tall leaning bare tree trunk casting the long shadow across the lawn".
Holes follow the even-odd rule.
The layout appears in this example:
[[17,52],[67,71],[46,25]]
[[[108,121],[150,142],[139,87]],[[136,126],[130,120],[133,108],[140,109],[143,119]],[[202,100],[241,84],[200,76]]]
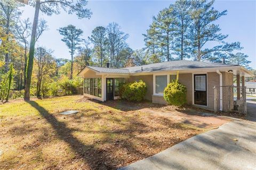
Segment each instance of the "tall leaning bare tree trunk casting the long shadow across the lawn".
[[27,101],[30,100],[30,84],[31,84],[31,76],[33,71],[33,63],[34,63],[36,28],[37,28],[37,22],[39,17],[39,10],[40,10],[40,0],[36,0],[36,10],[35,10],[31,40],[30,40],[28,64],[26,69],[26,84],[25,84],[24,100],[27,100]]

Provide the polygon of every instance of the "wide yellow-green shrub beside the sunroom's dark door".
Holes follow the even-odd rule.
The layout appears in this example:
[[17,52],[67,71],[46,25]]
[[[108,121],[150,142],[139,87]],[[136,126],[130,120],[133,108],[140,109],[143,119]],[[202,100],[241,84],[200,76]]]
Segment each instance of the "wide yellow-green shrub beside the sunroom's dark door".
[[147,93],[146,83],[140,80],[130,84],[123,85],[122,99],[128,101],[141,101]]

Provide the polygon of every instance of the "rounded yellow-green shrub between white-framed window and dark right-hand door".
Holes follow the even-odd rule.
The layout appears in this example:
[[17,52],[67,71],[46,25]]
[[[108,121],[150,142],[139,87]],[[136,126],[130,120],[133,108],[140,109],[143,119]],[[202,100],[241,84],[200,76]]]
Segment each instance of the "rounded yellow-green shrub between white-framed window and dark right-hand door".
[[164,99],[174,106],[181,106],[186,103],[187,88],[176,81],[171,82],[164,89]]

